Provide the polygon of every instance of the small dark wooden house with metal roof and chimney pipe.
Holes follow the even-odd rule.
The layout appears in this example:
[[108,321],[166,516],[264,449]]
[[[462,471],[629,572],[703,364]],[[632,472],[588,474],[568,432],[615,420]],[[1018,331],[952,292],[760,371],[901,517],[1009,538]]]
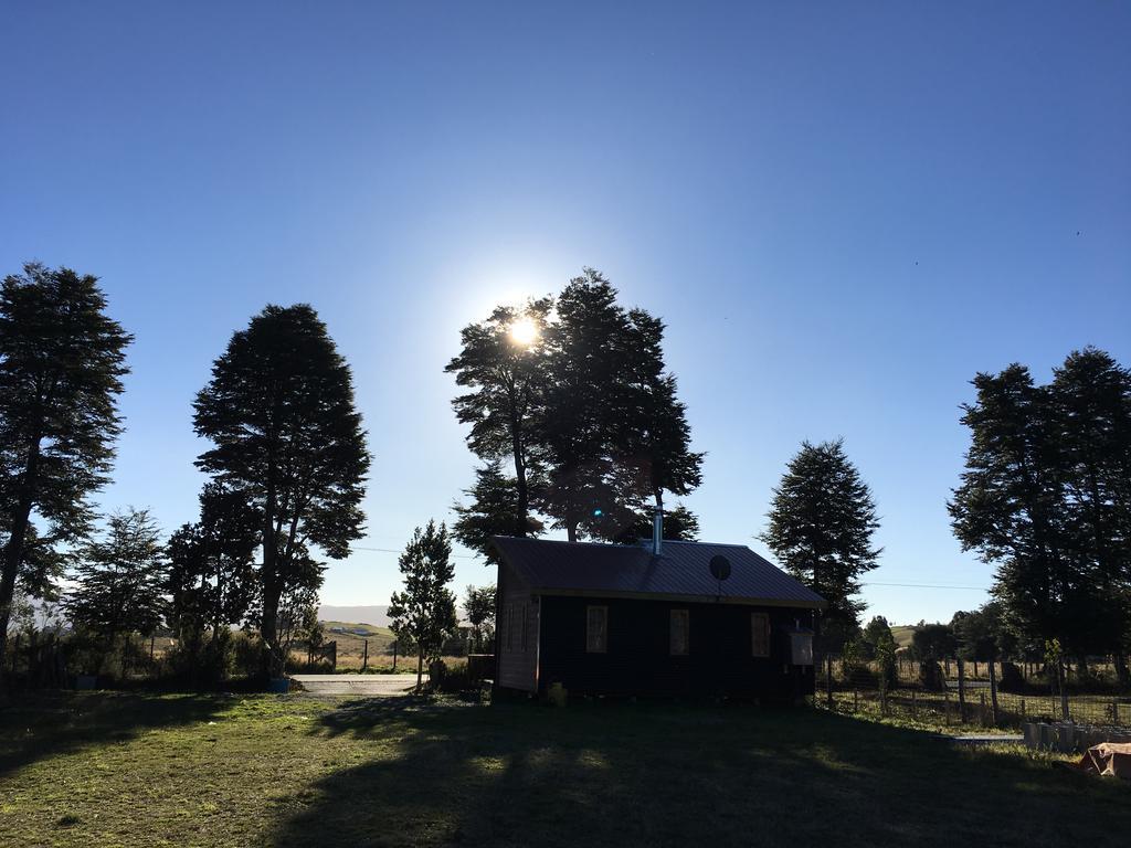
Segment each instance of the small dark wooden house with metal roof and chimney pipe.
[[813,694],[824,600],[742,545],[497,536],[495,685],[545,693]]

